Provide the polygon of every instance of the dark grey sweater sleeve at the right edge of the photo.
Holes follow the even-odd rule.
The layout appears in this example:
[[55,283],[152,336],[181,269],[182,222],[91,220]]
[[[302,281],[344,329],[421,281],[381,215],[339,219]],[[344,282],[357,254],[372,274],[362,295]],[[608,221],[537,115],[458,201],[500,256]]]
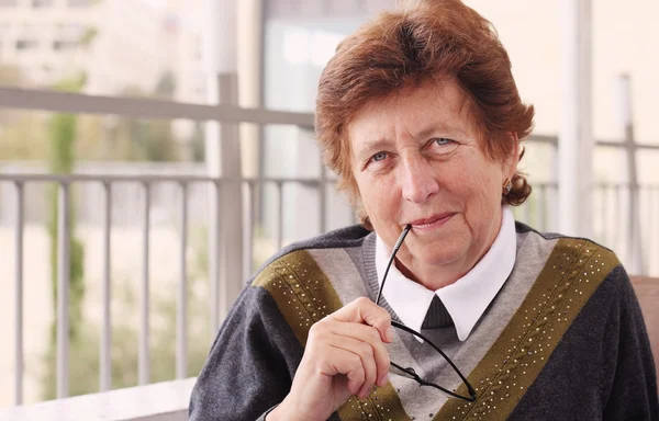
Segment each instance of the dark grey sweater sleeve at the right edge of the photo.
[[611,275],[618,280],[607,329],[614,373],[607,385],[604,419],[659,420],[657,371],[640,306],[624,269],[618,266]]

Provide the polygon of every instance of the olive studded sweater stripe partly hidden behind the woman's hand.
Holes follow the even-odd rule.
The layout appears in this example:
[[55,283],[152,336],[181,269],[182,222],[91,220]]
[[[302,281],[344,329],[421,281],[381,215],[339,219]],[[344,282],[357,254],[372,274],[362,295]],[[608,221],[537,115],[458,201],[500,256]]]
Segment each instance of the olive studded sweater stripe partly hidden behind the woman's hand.
[[[313,323],[343,307],[327,275],[304,250],[270,263],[252,285],[268,291],[302,346]],[[338,414],[344,421],[410,420],[391,383],[366,399],[351,397]]]

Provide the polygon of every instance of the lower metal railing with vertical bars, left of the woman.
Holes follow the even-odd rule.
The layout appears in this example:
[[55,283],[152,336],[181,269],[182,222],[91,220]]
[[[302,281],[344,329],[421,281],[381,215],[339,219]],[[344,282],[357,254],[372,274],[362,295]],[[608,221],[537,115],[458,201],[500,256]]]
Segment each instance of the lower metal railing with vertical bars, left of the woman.
[[[148,342],[149,342],[149,230],[150,230],[150,194],[149,192],[154,186],[163,183],[174,183],[178,186],[180,193],[180,208],[178,212],[178,230],[179,230],[179,259],[176,265],[178,265],[178,288],[177,288],[177,323],[176,323],[176,378],[186,378],[186,367],[188,364],[187,356],[187,344],[188,344],[188,321],[187,321],[187,303],[188,303],[188,289],[187,289],[187,238],[188,238],[188,191],[193,184],[204,184],[210,189],[221,191],[224,186],[234,183],[241,183],[244,186],[244,200],[250,203],[245,208],[243,215],[242,227],[244,228],[244,261],[243,264],[243,281],[246,280],[253,270],[254,261],[254,203],[255,203],[255,186],[260,185],[273,185],[277,192],[276,206],[277,208],[277,224],[275,230],[275,247],[281,248],[284,243],[282,221],[286,213],[286,203],[283,200],[283,187],[284,185],[302,185],[305,187],[316,189],[321,192],[320,197],[324,196],[324,190],[327,183],[333,181],[321,181],[319,179],[280,179],[280,178],[261,178],[261,179],[239,179],[231,180],[223,178],[210,178],[199,175],[101,175],[101,174],[0,174],[0,183],[11,183],[15,191],[15,213],[16,216],[14,230],[15,230],[15,280],[14,280],[14,303],[15,303],[15,320],[16,328],[14,330],[14,354],[15,354],[15,403],[20,405],[23,400],[23,265],[24,261],[24,190],[27,184],[36,183],[56,183],[58,190],[58,242],[57,242],[57,397],[65,398],[68,395],[69,384],[68,376],[66,373],[69,372],[69,259],[70,259],[70,244],[71,244],[71,230],[69,227],[69,220],[71,215],[71,189],[76,184],[98,184],[103,191],[102,203],[97,203],[99,210],[102,214],[102,318],[101,318],[101,342],[100,342],[100,385],[101,391],[110,390],[110,373],[111,373],[111,360],[110,350],[112,346],[111,338],[111,234],[113,229],[112,224],[112,190],[115,184],[119,183],[135,183],[141,185],[143,192],[143,209],[141,218],[141,230],[142,230],[142,281],[141,281],[141,299],[139,299],[139,337],[138,337],[138,384],[146,385],[149,383],[149,360],[148,360]],[[220,194],[213,195],[214,197],[221,197]],[[321,204],[324,208],[325,205]],[[216,212],[221,212],[223,204],[217,204],[213,207]],[[324,213],[322,213],[324,214]],[[220,215],[210,215],[211,218],[220,219]],[[324,215],[320,218],[319,231],[325,230]],[[220,227],[220,229],[222,229]],[[211,315],[217,315],[220,312],[220,303],[213,297],[217,296],[217,292],[222,288],[223,280],[219,277],[212,277],[211,282]],[[224,280],[226,282],[226,280]],[[230,303],[231,305],[232,303]],[[216,334],[217,326],[211,323],[209,338],[212,340]],[[210,343],[210,341],[209,341]]]

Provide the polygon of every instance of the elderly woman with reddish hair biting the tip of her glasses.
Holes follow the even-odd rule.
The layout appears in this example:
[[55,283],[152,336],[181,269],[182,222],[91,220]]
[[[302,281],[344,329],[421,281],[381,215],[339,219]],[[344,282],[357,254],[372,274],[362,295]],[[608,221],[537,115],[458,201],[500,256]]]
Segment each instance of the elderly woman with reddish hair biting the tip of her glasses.
[[615,254],[515,223],[534,110],[459,1],[383,13],[320,82],[316,130],[362,226],[243,291],[190,402],[208,420],[657,420]]

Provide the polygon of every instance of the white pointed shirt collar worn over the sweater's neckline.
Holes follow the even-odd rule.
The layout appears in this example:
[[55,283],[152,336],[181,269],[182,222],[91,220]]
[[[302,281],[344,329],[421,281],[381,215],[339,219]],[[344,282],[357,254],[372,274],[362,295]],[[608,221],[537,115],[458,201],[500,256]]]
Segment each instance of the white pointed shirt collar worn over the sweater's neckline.
[[[465,276],[433,292],[405,277],[392,264],[382,295],[405,326],[420,331],[436,294],[454,321],[458,339],[465,341],[513,271],[516,249],[515,219],[510,206],[504,205],[494,242]],[[390,255],[391,249],[377,236],[376,269],[380,285]]]

